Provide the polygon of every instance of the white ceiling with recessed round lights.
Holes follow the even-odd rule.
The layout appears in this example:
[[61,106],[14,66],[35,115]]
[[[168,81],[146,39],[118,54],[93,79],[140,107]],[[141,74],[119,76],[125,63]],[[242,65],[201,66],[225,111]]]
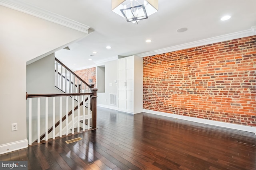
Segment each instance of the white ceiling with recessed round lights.
[[[255,35],[256,0],[159,0],[159,11],[138,24],[128,23],[112,12],[111,0],[22,1],[91,27],[93,32],[70,45],[70,51],[56,53],[73,70],[95,66],[117,55],[150,54],[249,29]],[[230,20],[221,21],[224,15],[230,15]],[[176,32],[182,27],[188,30]],[[146,39],[152,42],[146,43]],[[112,48],[106,49],[107,45]]]

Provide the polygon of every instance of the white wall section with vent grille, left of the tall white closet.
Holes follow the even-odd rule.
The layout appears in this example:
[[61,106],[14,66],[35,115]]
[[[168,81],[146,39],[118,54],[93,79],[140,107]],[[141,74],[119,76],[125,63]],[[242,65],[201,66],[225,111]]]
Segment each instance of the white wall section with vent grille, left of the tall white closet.
[[[102,65],[102,64],[101,64]],[[117,109],[117,106],[109,104],[109,94],[117,94],[117,86],[114,82],[117,80],[117,60],[104,63],[105,65],[105,93],[97,93],[97,105],[112,109]],[[112,86],[109,84],[112,83]],[[98,80],[97,80],[98,84]]]

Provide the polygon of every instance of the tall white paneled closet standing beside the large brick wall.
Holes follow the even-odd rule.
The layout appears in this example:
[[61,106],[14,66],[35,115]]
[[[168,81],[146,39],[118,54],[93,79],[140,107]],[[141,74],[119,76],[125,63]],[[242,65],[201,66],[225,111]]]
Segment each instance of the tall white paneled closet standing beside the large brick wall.
[[142,93],[143,59],[135,56],[118,59],[118,110],[133,114],[142,112]]

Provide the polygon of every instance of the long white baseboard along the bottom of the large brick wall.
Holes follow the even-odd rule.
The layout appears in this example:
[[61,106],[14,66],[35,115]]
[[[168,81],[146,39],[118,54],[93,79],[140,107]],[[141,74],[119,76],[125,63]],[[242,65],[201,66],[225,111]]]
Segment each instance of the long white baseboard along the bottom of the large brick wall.
[[234,123],[213,121],[213,120],[201,119],[201,118],[197,118],[197,117],[188,117],[188,116],[176,115],[176,114],[173,114],[173,113],[164,113],[164,112],[153,111],[153,110],[148,110],[148,109],[143,109],[143,112],[152,113],[152,114],[155,114],[155,115],[166,116],[166,117],[173,117],[173,118],[187,120],[187,121],[193,121],[193,122],[197,122],[197,123],[204,123],[204,124],[207,124],[207,125],[214,125],[214,126],[219,126],[219,127],[226,127],[226,128],[230,128],[230,129],[236,129],[236,130],[240,130],[240,131],[252,132],[252,133],[255,133],[255,135],[256,135],[256,127],[252,127],[252,126],[237,125],[237,124],[234,124]]

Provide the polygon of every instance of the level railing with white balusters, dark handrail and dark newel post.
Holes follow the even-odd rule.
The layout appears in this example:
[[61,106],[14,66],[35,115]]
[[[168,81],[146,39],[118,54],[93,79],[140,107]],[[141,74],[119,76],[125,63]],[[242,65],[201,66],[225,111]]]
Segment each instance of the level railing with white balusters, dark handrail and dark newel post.
[[[92,88],[90,93],[64,93],[64,94],[26,94],[26,98],[29,99],[29,116],[28,116],[28,141],[29,141],[29,145],[32,145],[32,98],[37,98],[37,118],[36,118],[36,122],[34,122],[34,124],[37,124],[37,142],[40,143],[40,141],[42,140],[41,138],[41,134],[42,134],[42,129],[40,128],[40,122],[41,122],[41,111],[40,111],[40,107],[41,107],[41,102],[40,102],[40,98],[44,98],[44,106],[45,107],[45,115],[44,115],[44,133],[45,133],[45,141],[48,141],[48,119],[52,119],[52,138],[55,139],[56,137],[56,127],[59,127],[59,137],[62,137],[62,105],[64,105],[63,103],[66,102],[66,132],[65,134],[68,135],[70,133],[70,129],[69,129],[69,124],[71,126],[71,133],[74,134],[74,128],[77,127],[78,129],[78,133],[80,132],[80,120],[83,120],[83,131],[85,131],[85,119],[87,119],[87,129],[96,129],[96,115],[97,115],[97,111],[96,111],[96,98],[97,98],[97,90],[96,88]],[[68,111],[68,100],[70,98],[70,96],[72,97],[72,113],[69,113]],[[77,101],[77,106],[83,106],[83,111],[82,111],[82,115],[80,115],[80,107],[77,107],[77,112],[75,115],[75,96],[80,96],[80,98],[82,99],[82,104],[80,103],[80,101]],[[59,97],[59,108],[56,108],[56,97]],[[63,98],[66,98],[66,100],[62,100]],[[88,106],[90,106],[90,101],[92,101],[92,114],[90,115],[90,109],[87,109],[87,115],[85,114],[85,99],[88,98],[90,100],[88,100]],[[52,100],[52,110],[50,111],[48,109],[48,101]],[[64,105],[65,106],[65,105]],[[90,107],[89,107],[90,108]],[[50,112],[50,114],[49,114]],[[59,114],[59,124],[56,125],[56,112]],[[71,115],[71,118],[69,118],[69,116]],[[51,116],[51,117],[48,117]],[[35,117],[35,115],[33,115],[33,117]],[[76,119],[75,119],[76,117]],[[92,122],[90,124],[90,118],[92,119]],[[68,121],[68,119],[71,119],[71,121]],[[70,123],[71,122],[71,123]],[[76,122],[76,125],[75,125]],[[91,127],[91,128],[90,128]],[[34,128],[33,128],[34,129]]]

